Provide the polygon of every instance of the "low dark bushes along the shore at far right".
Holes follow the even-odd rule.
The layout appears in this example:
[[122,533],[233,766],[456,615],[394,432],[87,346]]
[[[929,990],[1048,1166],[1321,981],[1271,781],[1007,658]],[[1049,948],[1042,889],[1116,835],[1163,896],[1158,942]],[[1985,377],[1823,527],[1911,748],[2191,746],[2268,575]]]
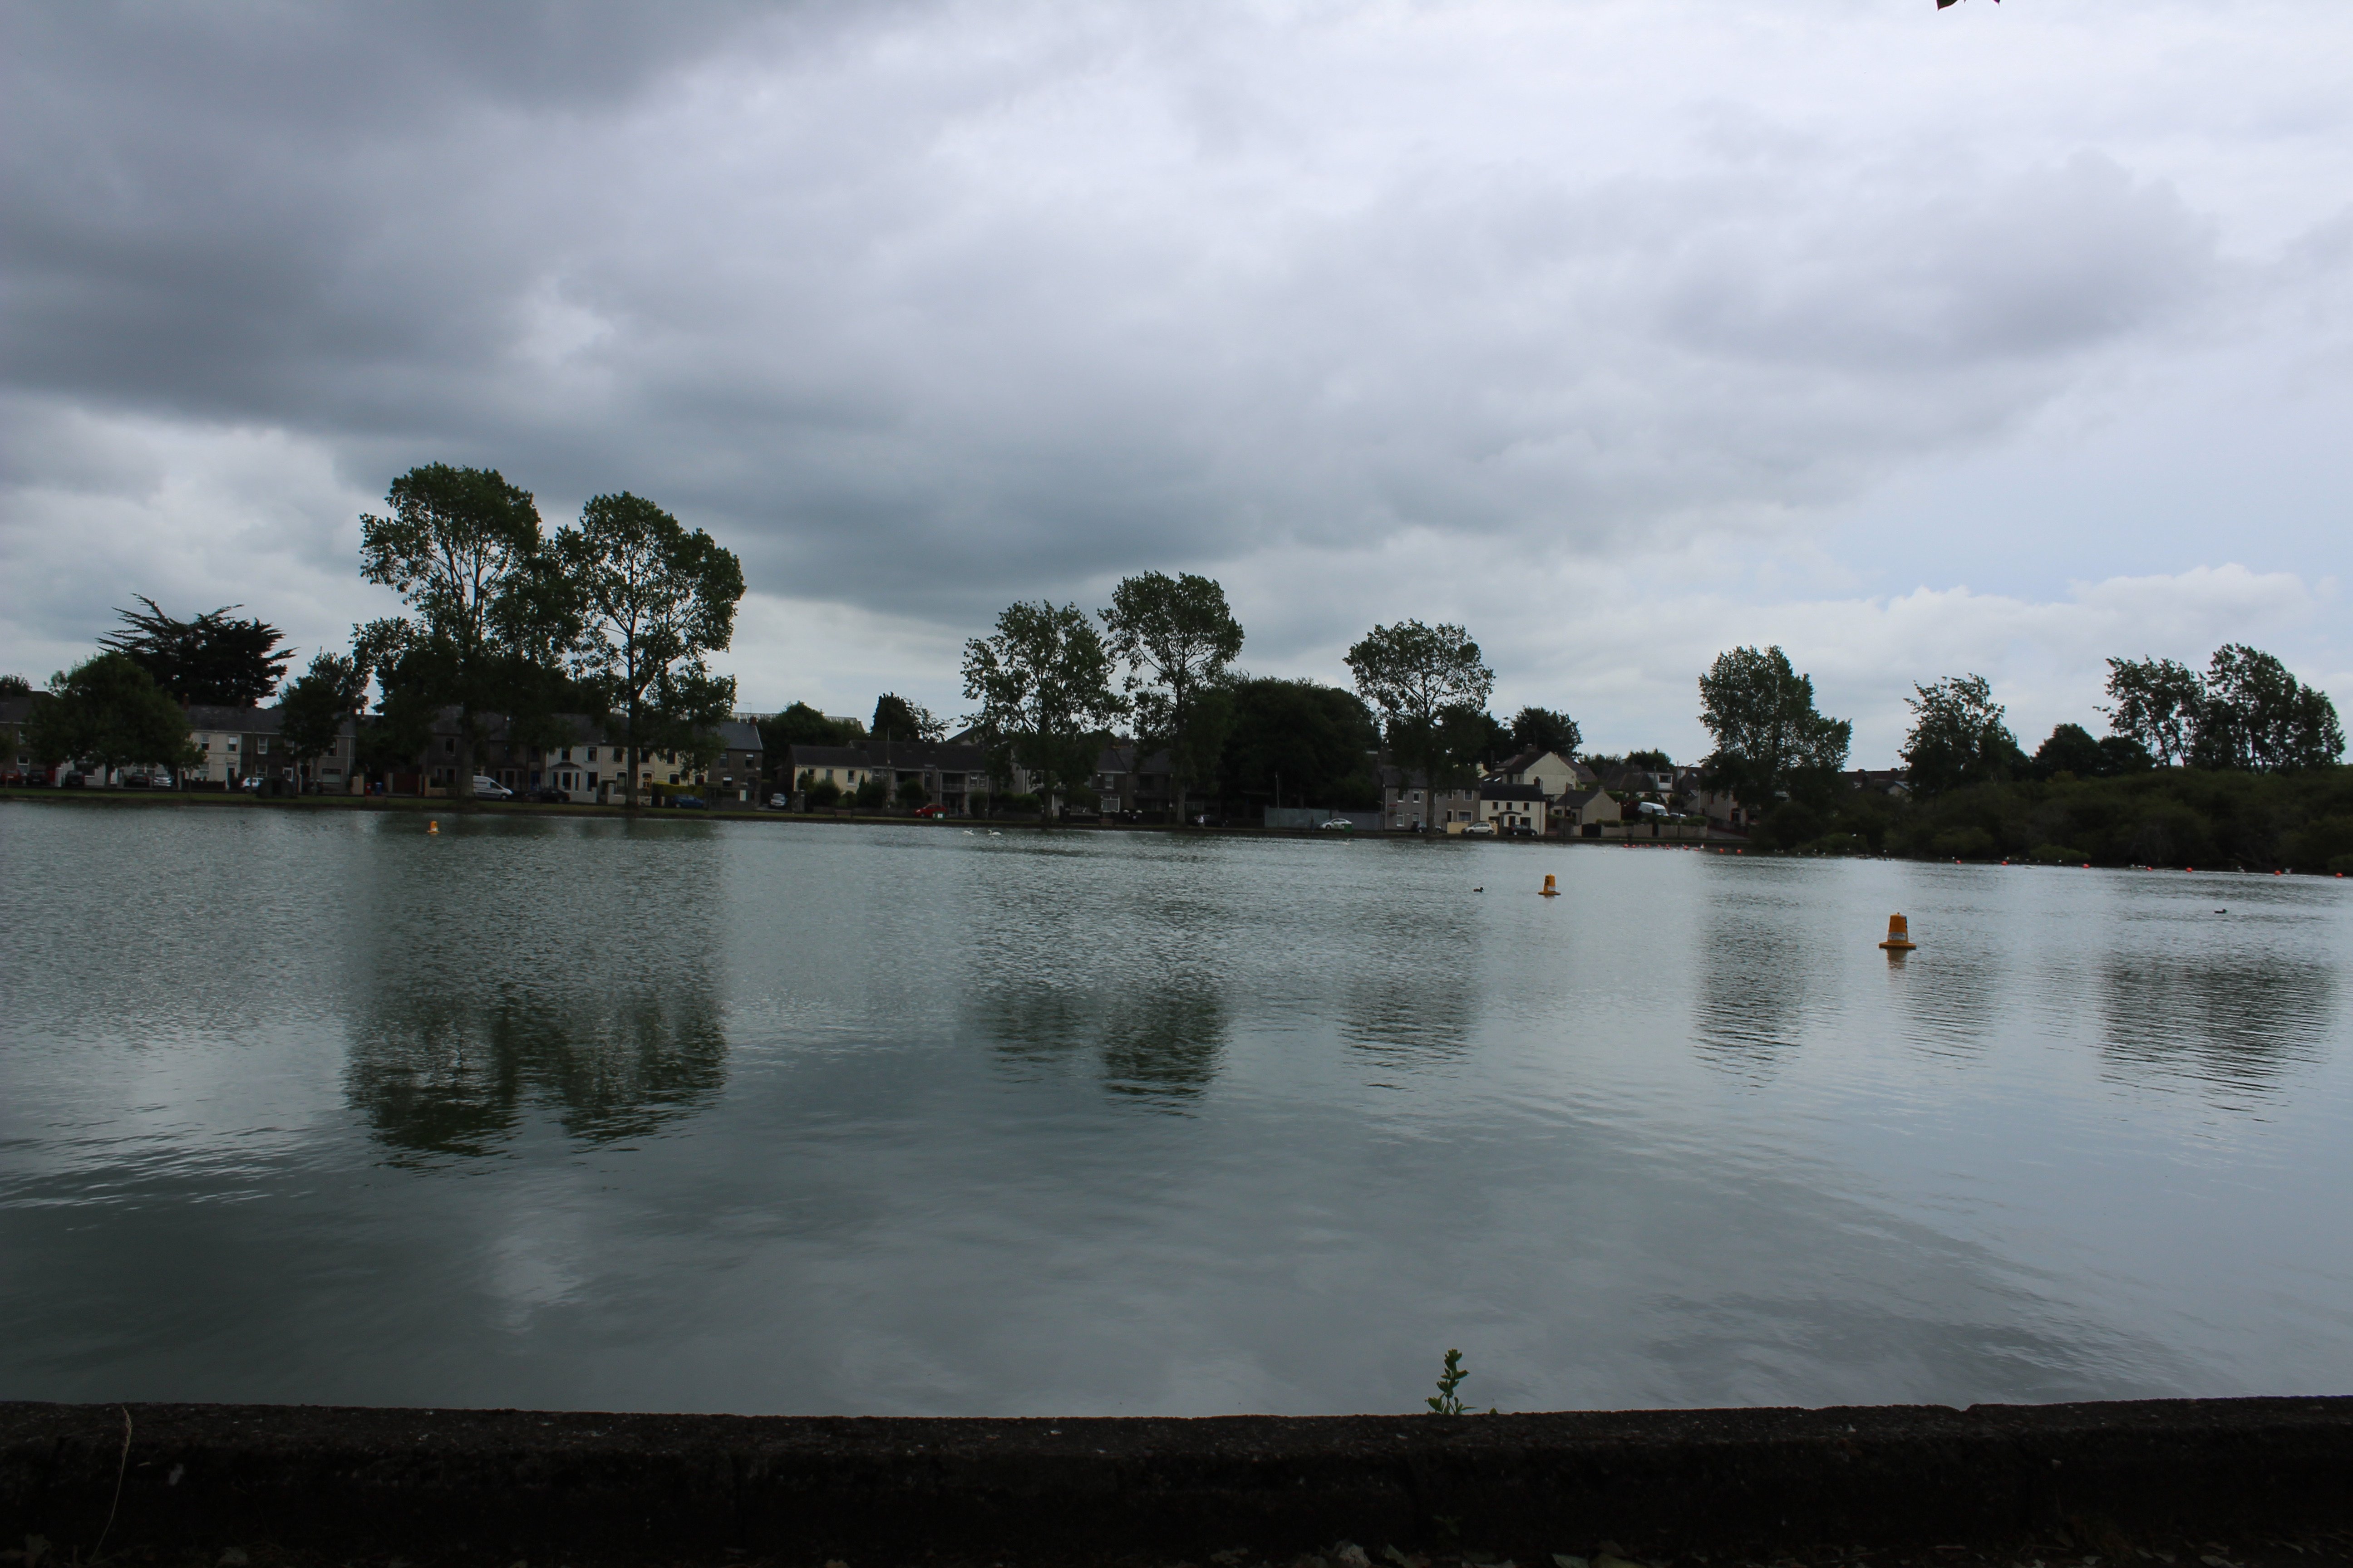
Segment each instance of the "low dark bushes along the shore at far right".
[[1929,799],[1791,799],[1760,849],[2049,865],[2353,872],[2353,771],[2146,769],[1965,785]]

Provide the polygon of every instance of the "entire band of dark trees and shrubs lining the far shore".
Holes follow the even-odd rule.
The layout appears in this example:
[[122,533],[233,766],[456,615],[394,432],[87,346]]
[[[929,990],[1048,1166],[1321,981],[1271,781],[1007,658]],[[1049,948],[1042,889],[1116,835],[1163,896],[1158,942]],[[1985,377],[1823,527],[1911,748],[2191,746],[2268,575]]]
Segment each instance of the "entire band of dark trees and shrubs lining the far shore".
[[[1567,710],[1529,705],[1504,724],[1489,712],[1497,672],[1457,623],[1374,625],[1348,646],[1353,689],[1254,677],[1235,663],[1245,632],[1224,585],[1162,571],[1122,578],[1092,614],[1005,607],[991,635],[965,642],[974,712],[958,733],[892,691],[871,726],[807,703],[734,712],[734,677],[711,668],[746,590],[734,552],[628,491],[593,496],[576,527],[548,534],[532,494],[487,468],[426,463],[393,480],[386,512],[360,517],[360,576],[400,595],[405,614],[355,625],[348,654],[322,649],[294,679],[282,632],[231,614],[242,607],[179,621],[134,595],[144,609],[118,611],[101,651],[45,691],[0,675],[12,755],[0,780],[33,764],[45,778],[75,764],[115,780],[146,764],[139,783],[162,771],[172,785],[235,788],[259,764],[266,776],[242,785],[367,780],[421,802],[438,790],[454,809],[473,802],[480,769],[501,766],[501,792],[532,790],[534,809],[560,813],[659,809],[708,785],[739,802],[784,797],[819,820],[894,820],[892,804],[927,806],[936,790],[958,818],[1019,809],[1040,825],[1089,825],[1118,811],[1122,827],[1165,813],[1200,830],[1214,816],[1221,832],[1235,809],[1247,818],[1285,802],[1379,811],[1367,832],[1431,835],[1546,835],[1567,809],[1605,844],[1692,844],[1697,832],[1741,853],[2353,872],[2337,708],[2240,642],[2205,670],[2108,658],[2108,733],[2061,722],[2033,755],[1988,677],[1915,682],[1901,766],[1878,771],[1849,771],[1854,722],[1817,708],[1812,675],[1779,644],[1737,646],[1697,679],[1708,755],[1675,766],[1661,750],[1584,750]],[[219,736],[216,757],[212,731],[198,741],[200,705],[256,708],[271,693],[273,724],[242,759],[235,736]],[[755,743],[727,741],[729,729]],[[795,748],[871,736],[882,764],[795,762]],[[965,755],[901,769],[894,738]],[[607,764],[574,771],[574,745]],[[713,778],[729,748],[736,771]],[[1612,825],[1642,820],[1675,832]]]

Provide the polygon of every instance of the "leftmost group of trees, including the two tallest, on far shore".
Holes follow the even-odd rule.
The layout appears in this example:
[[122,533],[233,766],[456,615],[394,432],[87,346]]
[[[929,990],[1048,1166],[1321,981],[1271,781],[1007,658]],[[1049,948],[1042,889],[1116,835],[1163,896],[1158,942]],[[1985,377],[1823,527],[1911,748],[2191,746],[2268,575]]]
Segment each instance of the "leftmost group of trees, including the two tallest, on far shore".
[[[400,475],[384,503],[360,517],[360,576],[405,614],[353,628],[348,651],[320,651],[285,682],[285,762],[332,748],[369,686],[381,696],[358,726],[362,764],[414,764],[454,717],[459,795],[473,792],[492,715],[508,741],[548,748],[572,738],[560,715],[591,717],[626,755],[631,804],[647,755],[715,755],[734,679],[708,656],[734,635],[744,569],[708,534],[628,491],[593,496],[576,527],[548,534],[529,491],[447,463]],[[280,689],[294,654],[275,625],[235,604],[193,621],[139,604],[35,703],[26,741],[45,762],[186,766],[184,705],[245,708]]]

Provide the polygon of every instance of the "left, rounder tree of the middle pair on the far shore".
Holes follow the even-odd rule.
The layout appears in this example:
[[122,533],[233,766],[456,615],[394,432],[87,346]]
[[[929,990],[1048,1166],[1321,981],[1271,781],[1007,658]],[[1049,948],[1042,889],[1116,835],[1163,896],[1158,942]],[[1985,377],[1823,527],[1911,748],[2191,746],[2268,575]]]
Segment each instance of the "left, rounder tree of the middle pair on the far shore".
[[1111,649],[1078,604],[1005,607],[995,632],[965,644],[965,696],[981,705],[998,778],[1019,762],[1049,802],[1085,788],[1127,710],[1111,677]]

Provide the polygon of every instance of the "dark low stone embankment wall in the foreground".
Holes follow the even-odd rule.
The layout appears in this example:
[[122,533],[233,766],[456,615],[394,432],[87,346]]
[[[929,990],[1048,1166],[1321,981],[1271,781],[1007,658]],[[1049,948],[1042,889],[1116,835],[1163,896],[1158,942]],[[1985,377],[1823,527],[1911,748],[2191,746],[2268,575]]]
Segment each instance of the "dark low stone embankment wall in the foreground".
[[2238,1568],[2334,1559],[2348,1528],[2353,1399],[1207,1420],[0,1403],[19,1563]]

